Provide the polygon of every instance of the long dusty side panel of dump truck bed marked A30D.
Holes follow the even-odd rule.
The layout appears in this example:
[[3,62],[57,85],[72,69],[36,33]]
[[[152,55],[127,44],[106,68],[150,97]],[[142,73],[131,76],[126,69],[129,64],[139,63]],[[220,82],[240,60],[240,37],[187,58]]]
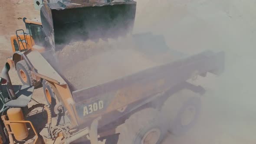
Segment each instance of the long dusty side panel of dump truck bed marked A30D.
[[[86,118],[95,118],[131,105],[136,101],[140,101],[139,105],[145,105],[148,99],[167,92],[171,88],[176,89],[179,87],[178,85],[186,83],[195,75],[205,76],[207,72],[220,74],[224,69],[224,59],[224,52],[204,51],[197,55],[174,59],[171,62],[156,65],[109,82],[73,91],[76,111],[80,118],[85,118],[83,115],[85,106],[104,101],[104,108],[101,111],[94,112],[94,115],[86,115]],[[190,86],[187,85],[183,88],[190,88]],[[132,109],[133,107],[129,107],[126,111],[129,112]]]

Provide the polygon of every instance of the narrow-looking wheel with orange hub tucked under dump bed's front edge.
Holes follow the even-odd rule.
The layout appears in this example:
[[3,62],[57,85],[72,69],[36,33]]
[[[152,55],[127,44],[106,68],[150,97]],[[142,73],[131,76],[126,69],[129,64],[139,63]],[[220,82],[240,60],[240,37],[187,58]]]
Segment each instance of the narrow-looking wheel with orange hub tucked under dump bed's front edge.
[[53,110],[54,106],[56,105],[56,98],[53,89],[45,79],[43,79],[42,85],[46,102],[50,106],[51,110]]

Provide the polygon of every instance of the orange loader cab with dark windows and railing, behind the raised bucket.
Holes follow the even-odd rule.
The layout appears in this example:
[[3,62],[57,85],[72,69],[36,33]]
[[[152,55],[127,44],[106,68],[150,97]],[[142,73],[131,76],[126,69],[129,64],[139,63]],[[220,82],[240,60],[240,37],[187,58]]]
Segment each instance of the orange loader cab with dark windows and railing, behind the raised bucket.
[[28,20],[23,18],[26,30],[18,29],[15,35],[10,37],[13,52],[24,52],[33,49],[34,45],[44,46],[44,36],[42,33],[42,23],[40,19]]

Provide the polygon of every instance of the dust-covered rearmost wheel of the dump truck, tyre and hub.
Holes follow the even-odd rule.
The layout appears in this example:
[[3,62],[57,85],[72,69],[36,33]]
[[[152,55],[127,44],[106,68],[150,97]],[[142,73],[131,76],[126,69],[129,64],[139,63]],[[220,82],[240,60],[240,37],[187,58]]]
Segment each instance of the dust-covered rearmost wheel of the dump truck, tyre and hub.
[[200,97],[190,90],[182,90],[167,99],[161,117],[165,119],[164,124],[171,134],[182,135],[194,126],[200,110]]

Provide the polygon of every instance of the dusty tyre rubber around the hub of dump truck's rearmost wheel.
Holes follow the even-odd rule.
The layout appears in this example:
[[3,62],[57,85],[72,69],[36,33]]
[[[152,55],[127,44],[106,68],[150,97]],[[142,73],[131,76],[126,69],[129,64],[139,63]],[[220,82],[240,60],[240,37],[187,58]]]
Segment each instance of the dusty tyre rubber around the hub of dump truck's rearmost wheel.
[[[180,121],[181,113],[187,105],[191,104],[194,104],[196,108],[195,118],[190,124],[182,126]],[[174,95],[171,95],[170,98],[165,101],[161,109],[161,117],[164,118],[164,124],[167,126],[168,131],[173,135],[179,136],[192,128],[200,115],[200,109],[200,95],[184,89]]]

